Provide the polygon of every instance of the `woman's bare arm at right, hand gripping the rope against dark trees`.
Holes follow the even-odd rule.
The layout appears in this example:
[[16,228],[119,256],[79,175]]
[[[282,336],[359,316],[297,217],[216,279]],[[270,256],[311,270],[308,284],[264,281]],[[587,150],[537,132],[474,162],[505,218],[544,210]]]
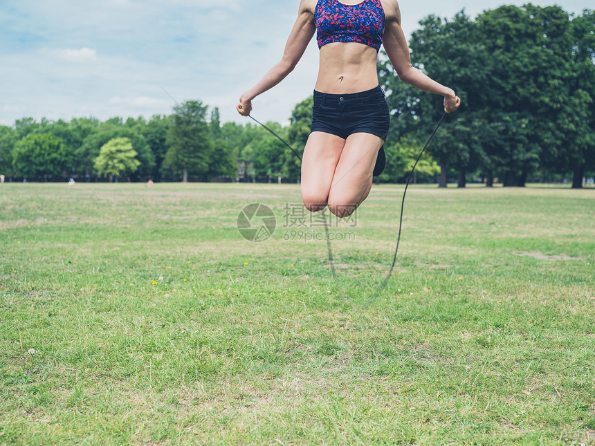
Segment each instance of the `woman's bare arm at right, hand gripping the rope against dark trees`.
[[444,96],[444,110],[447,113],[459,108],[461,100],[455,91],[430,79],[411,64],[411,55],[407,39],[401,28],[401,11],[396,0],[385,2],[386,24],[383,34],[383,46],[396,74],[403,82],[417,89]]

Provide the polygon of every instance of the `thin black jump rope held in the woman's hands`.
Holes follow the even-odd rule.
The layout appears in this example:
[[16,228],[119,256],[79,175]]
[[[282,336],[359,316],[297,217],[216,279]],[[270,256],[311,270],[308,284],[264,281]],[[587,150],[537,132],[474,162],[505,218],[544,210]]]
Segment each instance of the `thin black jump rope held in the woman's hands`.
[[[417,104],[419,104],[419,102]],[[417,104],[414,104],[414,106],[417,106]],[[411,111],[414,108],[414,106],[412,106],[412,108],[409,111]],[[407,111],[406,113],[403,113],[401,116],[409,113],[409,111]],[[428,140],[425,142],[425,145],[423,146],[423,149],[421,149],[421,151],[419,152],[419,155],[417,156],[417,159],[415,160],[414,165],[413,165],[411,171],[409,172],[409,175],[407,177],[407,181],[405,182],[405,190],[403,191],[403,199],[401,201],[401,216],[399,218],[399,236],[396,239],[396,248],[394,250],[394,257],[392,258],[392,264],[390,266],[390,270],[388,272],[388,275],[385,277],[385,279],[380,284],[380,286],[378,286],[378,289],[376,290],[376,292],[374,292],[374,294],[371,297],[369,297],[369,299],[366,301],[366,303],[363,306],[363,309],[368,308],[370,306],[370,304],[372,304],[372,302],[374,302],[376,300],[376,298],[378,298],[378,296],[386,288],[388,282],[390,281],[390,278],[392,277],[392,273],[394,271],[394,266],[396,265],[396,254],[399,252],[399,243],[401,242],[401,230],[403,228],[403,210],[405,209],[405,196],[407,195],[407,189],[409,187],[410,180],[411,180],[411,178],[413,176],[413,173],[415,171],[415,167],[417,167],[417,163],[421,159],[421,156],[423,155],[423,152],[425,152],[425,149],[427,149],[428,148],[428,145],[430,145],[430,141],[432,140],[432,138],[434,138],[434,135],[438,131],[438,129],[439,129],[440,125],[442,124],[444,118],[446,118],[446,114],[447,114],[447,112],[446,112],[446,109],[445,109],[442,117],[438,121],[438,124],[434,128],[434,131],[432,131],[432,134],[430,135],[430,138],[428,138]],[[293,147],[291,147],[291,145],[289,145],[289,142],[287,142],[286,140],[284,140],[283,138],[281,138],[273,130],[271,130],[268,127],[266,127],[266,125],[264,125],[262,122],[259,122],[258,120],[256,120],[255,118],[253,118],[253,116],[250,115],[250,118],[254,122],[256,122],[257,124],[259,124],[260,126],[262,126],[264,129],[266,129],[267,131],[271,132],[284,145],[286,145],[287,147],[289,147],[289,149],[291,149],[291,151],[293,152],[293,154],[295,156],[297,156],[297,158],[299,158],[300,161],[302,160],[302,157],[300,156],[300,154],[298,154],[297,151],[295,151],[293,149]],[[333,279],[335,281],[337,281],[336,271],[335,271],[335,263],[334,263],[334,260],[333,260],[333,252],[332,252],[332,249],[331,249],[331,239],[329,237],[329,227],[326,224],[326,216],[324,216],[324,210],[322,211],[322,216],[323,216],[323,219],[324,219],[324,231],[326,232],[326,235],[327,235],[327,249],[329,250],[329,264],[331,266],[331,272],[333,274]]]

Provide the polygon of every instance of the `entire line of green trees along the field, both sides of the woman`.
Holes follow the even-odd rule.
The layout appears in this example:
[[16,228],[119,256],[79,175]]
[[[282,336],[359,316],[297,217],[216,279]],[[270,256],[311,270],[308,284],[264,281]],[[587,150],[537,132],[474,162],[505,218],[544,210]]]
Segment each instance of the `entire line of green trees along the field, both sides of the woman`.
[[[559,6],[502,6],[474,20],[430,15],[412,33],[414,66],[452,86],[462,105],[449,115],[416,170],[415,180],[459,187],[482,180],[524,186],[595,173],[595,16]],[[441,97],[399,80],[385,54],[378,75],[392,113],[379,182],[403,181],[443,113]],[[312,97],[295,105],[289,126],[270,127],[302,153]],[[170,115],[75,118],[0,126],[0,174],[28,180],[300,179],[300,161],[257,124],[221,123],[219,109],[198,100]]]

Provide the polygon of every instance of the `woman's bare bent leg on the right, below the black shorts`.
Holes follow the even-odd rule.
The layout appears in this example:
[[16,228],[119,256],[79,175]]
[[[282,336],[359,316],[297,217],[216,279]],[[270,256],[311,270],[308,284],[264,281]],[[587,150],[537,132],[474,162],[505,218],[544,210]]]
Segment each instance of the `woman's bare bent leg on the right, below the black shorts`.
[[372,188],[372,171],[384,141],[371,133],[353,133],[340,152],[327,203],[339,217],[353,214]]

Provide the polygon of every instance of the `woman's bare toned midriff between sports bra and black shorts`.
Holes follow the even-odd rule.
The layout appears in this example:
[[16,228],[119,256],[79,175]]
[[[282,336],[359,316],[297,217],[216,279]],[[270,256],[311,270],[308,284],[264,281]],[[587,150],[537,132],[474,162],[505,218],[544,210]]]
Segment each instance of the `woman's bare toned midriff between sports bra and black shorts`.
[[314,89],[320,93],[349,94],[378,86],[378,53],[356,42],[333,42],[320,48],[320,66]]

